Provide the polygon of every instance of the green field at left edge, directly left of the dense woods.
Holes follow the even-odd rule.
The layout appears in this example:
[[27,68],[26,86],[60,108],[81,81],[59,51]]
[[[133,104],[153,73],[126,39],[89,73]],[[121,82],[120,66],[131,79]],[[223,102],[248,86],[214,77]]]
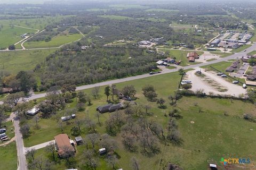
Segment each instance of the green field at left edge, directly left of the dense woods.
[[44,58],[54,51],[55,49],[1,52],[0,70],[10,73],[18,73],[21,70],[32,70],[36,64],[43,62]]

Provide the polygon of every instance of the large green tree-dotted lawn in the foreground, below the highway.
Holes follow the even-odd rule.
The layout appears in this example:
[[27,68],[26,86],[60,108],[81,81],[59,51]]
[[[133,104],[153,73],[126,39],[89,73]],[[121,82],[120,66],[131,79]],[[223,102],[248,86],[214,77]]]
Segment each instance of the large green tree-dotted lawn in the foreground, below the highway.
[[[248,145],[241,145],[241,143],[256,144],[254,140],[256,134],[250,130],[253,129],[255,123],[243,119],[244,113],[253,114],[256,111],[254,105],[240,100],[207,97],[182,97],[177,100],[177,104],[173,105],[174,90],[178,88],[180,78],[179,73],[175,72],[116,84],[115,89],[121,90],[123,94],[125,94],[125,91],[122,89],[133,85],[134,90],[137,91],[134,98],[137,105],[129,106],[129,108],[115,113],[100,114],[98,115],[99,119],[95,108],[107,104],[108,88],[105,86],[83,90],[87,94],[86,96],[79,94],[77,99],[69,99],[66,109],[58,111],[57,114],[49,118],[39,117],[38,126],[36,125],[35,118],[29,118],[27,121],[22,122],[21,126],[28,124],[30,127],[28,138],[25,137],[24,139],[25,146],[34,146],[53,140],[55,135],[63,132],[67,133],[71,139],[74,139],[76,135],[81,135],[88,147],[92,149],[93,146],[89,140],[91,139],[89,134],[97,133],[99,137],[98,135],[95,137],[95,150],[98,150],[103,145],[99,139],[105,140],[107,138],[108,141],[113,140],[111,143],[114,142],[115,146],[117,146],[117,148],[114,147],[116,148],[114,149],[114,155],[117,158],[114,161],[114,166],[124,169],[132,169],[131,163],[134,162],[131,158],[133,157],[140,166],[140,169],[159,169],[165,167],[169,162],[179,165],[184,169],[191,167],[193,169],[204,169],[208,166],[207,161],[221,166],[219,159],[230,155],[237,157],[249,155],[252,160],[255,159],[255,156],[250,153],[256,150]],[[150,84],[153,88],[143,88],[145,84]],[[170,95],[172,97],[169,97]],[[153,97],[150,99],[150,96]],[[88,102],[89,98],[91,104]],[[53,98],[50,97],[49,99]],[[87,102],[81,105],[80,101],[86,100]],[[112,101],[111,87],[108,100]],[[114,96],[114,103],[117,102],[118,99]],[[172,103],[172,105],[169,103]],[[75,107],[79,111],[74,110]],[[135,112],[137,107],[140,108],[141,112]],[[130,109],[133,112],[130,112]],[[70,113],[76,113],[77,115],[74,120],[69,121],[71,124],[61,123],[60,117]],[[44,115],[46,116],[47,112]],[[129,116],[131,116],[134,121],[132,126],[136,127],[137,122],[140,120],[139,115],[143,118],[142,120],[147,120],[148,123],[153,123],[152,125],[156,125],[156,127],[159,126],[158,128],[162,127],[166,140],[169,139],[169,133],[172,134],[172,132],[167,130],[167,127],[172,126],[171,131],[175,132],[175,136],[171,135],[170,139],[173,139],[173,141],[167,140],[167,145],[165,145],[162,135],[159,134],[159,141],[152,136],[150,137],[150,139],[154,139],[152,147],[156,147],[156,150],[147,148],[148,153],[146,153],[143,149],[143,142],[139,142],[140,138],[139,141],[133,141],[125,137],[124,126],[127,122],[119,122],[122,124],[122,128],[112,124],[111,127],[113,129],[109,129],[108,124],[110,122],[108,121],[116,116],[121,116],[119,117],[121,120],[123,118],[129,120]],[[143,123],[141,122],[140,124]],[[240,124],[243,128],[234,126],[235,124]],[[73,130],[73,127],[79,127],[81,132],[78,129],[76,131]],[[104,136],[104,133],[110,134],[110,137]],[[174,142],[174,139],[177,138],[179,139],[178,143]],[[124,145],[124,140],[131,143]],[[53,169],[70,167],[71,165],[76,167],[88,165],[90,162],[88,150],[90,151],[90,149],[86,149],[86,145],[77,146],[77,154],[74,157],[69,158],[69,160],[56,159],[55,161],[58,164],[52,165]],[[48,152],[47,154],[43,149],[36,153],[36,157],[40,158],[40,155],[44,159],[52,160],[51,153]],[[195,156],[198,159],[194,159]],[[110,160],[105,156],[99,157],[98,154],[92,154],[91,157],[97,162],[96,169],[111,169]],[[29,159],[29,157],[27,158]]]

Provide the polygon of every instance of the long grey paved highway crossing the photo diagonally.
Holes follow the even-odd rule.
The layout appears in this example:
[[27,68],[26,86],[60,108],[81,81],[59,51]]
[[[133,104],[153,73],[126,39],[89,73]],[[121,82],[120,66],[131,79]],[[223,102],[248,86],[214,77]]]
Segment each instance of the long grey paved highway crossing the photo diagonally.
[[[209,65],[209,64],[215,64],[215,63],[219,63],[219,62],[223,62],[223,61],[227,61],[227,60],[231,60],[231,59],[241,58],[242,56],[245,56],[247,53],[250,53],[255,49],[256,49],[256,44],[247,48],[246,52],[235,53],[235,54],[230,55],[228,57],[219,58],[218,60],[214,60],[214,61],[210,61],[210,62],[206,62],[206,63],[185,66],[185,67],[183,67],[183,69],[184,70],[193,69],[195,67],[201,67],[201,66],[205,66],[205,65]],[[93,87],[96,87],[96,86],[107,86],[107,85],[110,85],[110,84],[116,84],[116,83],[131,81],[131,80],[138,80],[138,79],[153,77],[153,76],[160,75],[160,74],[172,73],[172,72],[176,72],[176,71],[178,71],[178,69],[163,70],[162,73],[153,74],[153,75],[142,74],[142,75],[137,75],[137,76],[134,76],[134,77],[128,77],[128,78],[123,78],[123,79],[115,79],[115,80],[104,81],[104,82],[95,83],[95,84],[88,84],[88,85],[84,85],[84,86],[78,86],[78,87],[76,87],[76,90],[77,91],[85,90],[85,89],[90,89],[90,88],[93,88]],[[46,93],[31,95],[29,98],[27,98],[27,100],[38,99],[38,98],[42,98],[42,97],[45,97],[45,96],[46,96]]]

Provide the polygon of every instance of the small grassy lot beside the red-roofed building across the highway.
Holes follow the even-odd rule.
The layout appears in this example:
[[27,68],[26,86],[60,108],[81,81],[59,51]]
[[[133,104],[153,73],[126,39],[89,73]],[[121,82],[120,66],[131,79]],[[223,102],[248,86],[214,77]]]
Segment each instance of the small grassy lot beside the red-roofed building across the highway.
[[[176,61],[181,61],[181,66],[186,66],[188,64],[193,64],[193,63],[189,63],[188,59],[187,59],[187,53],[190,53],[191,51],[188,50],[174,50],[174,49],[159,49],[163,52],[167,52],[169,53],[170,57],[175,57]],[[202,55],[203,52],[197,52],[197,54]],[[196,63],[198,64],[198,63]]]

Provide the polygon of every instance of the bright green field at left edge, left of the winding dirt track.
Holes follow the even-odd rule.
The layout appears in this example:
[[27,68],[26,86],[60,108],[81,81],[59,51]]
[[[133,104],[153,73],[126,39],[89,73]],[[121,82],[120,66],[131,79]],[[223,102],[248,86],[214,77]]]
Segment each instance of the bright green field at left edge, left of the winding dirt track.
[[7,48],[9,45],[18,43],[23,33],[35,33],[36,30],[20,27],[3,26],[0,27],[0,49]]

